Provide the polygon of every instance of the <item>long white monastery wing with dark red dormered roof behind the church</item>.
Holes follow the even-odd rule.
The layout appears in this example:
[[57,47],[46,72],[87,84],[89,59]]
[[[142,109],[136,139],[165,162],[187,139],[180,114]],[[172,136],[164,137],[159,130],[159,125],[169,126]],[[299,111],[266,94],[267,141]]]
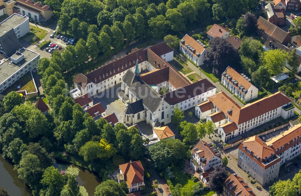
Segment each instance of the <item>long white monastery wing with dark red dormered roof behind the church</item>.
[[[172,54],[173,56],[172,49],[165,42],[152,46],[152,50],[160,51],[156,48],[169,48],[167,49],[166,54],[168,54],[168,56]],[[165,66],[171,67],[167,61],[164,61],[152,50],[150,48],[135,49],[130,54],[118,58],[85,75],[79,73],[74,78],[74,86],[81,91],[81,94],[90,93],[90,95],[94,97],[107,89],[121,84],[127,70],[135,72],[137,59],[139,72],[161,69]],[[160,54],[162,54],[161,51]],[[164,54],[162,55],[164,56]]]

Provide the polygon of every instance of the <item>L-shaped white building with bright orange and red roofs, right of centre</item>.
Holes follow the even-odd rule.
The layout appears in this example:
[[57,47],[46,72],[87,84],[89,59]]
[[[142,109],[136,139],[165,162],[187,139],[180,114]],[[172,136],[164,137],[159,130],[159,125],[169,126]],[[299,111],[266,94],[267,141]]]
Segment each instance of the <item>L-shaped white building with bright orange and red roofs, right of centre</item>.
[[[195,112],[199,113],[200,117],[204,117],[203,112],[208,114],[209,110],[210,113],[213,110],[213,114],[216,115],[219,114],[222,116],[220,111],[225,115],[225,120],[221,120],[221,123],[218,123],[219,126],[216,126],[218,135],[224,142],[272,119],[278,117],[287,119],[294,115],[294,107],[290,103],[291,100],[281,92],[276,92],[244,107],[240,107],[224,92],[219,92],[216,95],[208,97],[208,101],[213,104],[213,109],[211,109],[212,106],[207,102],[206,105],[209,107],[203,107],[202,112],[198,109],[200,107],[196,107]],[[206,117],[206,120],[212,119],[209,116]]]

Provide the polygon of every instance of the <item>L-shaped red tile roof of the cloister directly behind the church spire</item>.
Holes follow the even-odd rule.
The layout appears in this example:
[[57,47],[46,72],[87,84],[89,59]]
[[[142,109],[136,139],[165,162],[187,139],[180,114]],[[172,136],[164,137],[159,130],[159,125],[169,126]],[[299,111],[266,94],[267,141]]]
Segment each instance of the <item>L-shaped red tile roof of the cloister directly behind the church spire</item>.
[[164,67],[162,69],[155,69],[153,71],[144,73],[140,75],[140,78],[146,84],[160,84],[163,82],[170,83],[176,89],[183,86],[187,86],[190,83],[182,78],[182,75],[177,71],[173,70],[171,67]]

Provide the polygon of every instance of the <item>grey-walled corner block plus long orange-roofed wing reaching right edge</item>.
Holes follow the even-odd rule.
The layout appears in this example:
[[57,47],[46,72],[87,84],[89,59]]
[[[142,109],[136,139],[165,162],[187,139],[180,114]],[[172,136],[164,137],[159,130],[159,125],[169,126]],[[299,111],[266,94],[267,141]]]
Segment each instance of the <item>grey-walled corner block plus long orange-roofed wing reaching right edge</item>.
[[278,179],[281,165],[300,155],[300,146],[301,124],[268,142],[252,136],[238,147],[237,165],[264,186]]

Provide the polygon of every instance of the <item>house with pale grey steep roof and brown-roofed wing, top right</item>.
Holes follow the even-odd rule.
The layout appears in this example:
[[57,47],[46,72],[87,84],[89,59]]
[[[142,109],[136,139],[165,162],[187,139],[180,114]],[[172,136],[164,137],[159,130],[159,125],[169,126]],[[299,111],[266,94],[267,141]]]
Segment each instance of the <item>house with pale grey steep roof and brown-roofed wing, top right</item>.
[[274,5],[269,3],[265,6],[265,13],[270,23],[277,26],[285,25],[285,12],[281,11],[281,8],[274,8]]

